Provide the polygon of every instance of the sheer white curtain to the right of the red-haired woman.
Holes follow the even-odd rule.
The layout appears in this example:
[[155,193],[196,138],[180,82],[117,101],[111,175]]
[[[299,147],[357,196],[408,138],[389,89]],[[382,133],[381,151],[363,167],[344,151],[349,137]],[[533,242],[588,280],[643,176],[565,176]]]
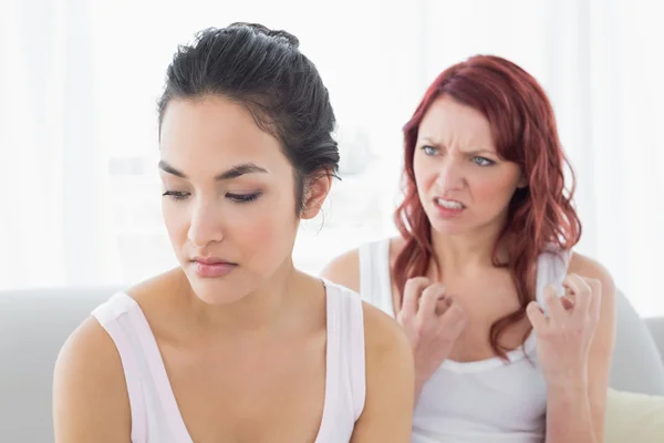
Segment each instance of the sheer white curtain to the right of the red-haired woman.
[[643,315],[664,315],[664,29],[650,1],[550,2],[548,82],[578,172],[580,249]]

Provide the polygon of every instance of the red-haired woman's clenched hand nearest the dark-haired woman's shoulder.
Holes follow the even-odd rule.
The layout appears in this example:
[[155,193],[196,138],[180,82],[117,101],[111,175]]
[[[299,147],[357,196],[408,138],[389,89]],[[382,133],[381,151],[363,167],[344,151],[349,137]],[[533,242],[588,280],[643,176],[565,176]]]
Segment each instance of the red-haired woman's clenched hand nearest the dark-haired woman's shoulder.
[[416,396],[424,383],[449,357],[468,318],[445,286],[426,277],[406,281],[397,321],[411,340],[415,357]]

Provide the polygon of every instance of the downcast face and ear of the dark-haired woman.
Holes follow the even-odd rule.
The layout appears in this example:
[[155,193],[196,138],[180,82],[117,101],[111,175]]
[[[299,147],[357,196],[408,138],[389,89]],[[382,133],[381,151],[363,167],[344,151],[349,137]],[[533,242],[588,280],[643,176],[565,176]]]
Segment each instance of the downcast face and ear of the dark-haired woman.
[[[173,100],[160,155],[164,222],[198,298],[231,303],[292,267],[300,223],[293,168],[249,110],[219,95]],[[307,193],[302,218],[317,215],[329,185]]]

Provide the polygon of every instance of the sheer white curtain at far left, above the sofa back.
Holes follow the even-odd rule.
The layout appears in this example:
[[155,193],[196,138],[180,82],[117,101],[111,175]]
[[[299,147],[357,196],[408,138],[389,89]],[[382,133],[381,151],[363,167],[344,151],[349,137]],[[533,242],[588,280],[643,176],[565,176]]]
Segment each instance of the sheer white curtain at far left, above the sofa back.
[[85,2],[0,6],[0,287],[98,276]]

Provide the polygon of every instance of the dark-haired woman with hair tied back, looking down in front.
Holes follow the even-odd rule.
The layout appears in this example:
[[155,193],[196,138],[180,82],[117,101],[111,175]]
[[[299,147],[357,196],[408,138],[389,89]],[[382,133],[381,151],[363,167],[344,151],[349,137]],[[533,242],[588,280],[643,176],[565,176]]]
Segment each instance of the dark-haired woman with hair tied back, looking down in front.
[[334,114],[294,37],[210,29],[159,102],[179,265],[116,293],[55,368],[58,443],[409,441],[413,353],[388,316],[293,267],[328,195]]

